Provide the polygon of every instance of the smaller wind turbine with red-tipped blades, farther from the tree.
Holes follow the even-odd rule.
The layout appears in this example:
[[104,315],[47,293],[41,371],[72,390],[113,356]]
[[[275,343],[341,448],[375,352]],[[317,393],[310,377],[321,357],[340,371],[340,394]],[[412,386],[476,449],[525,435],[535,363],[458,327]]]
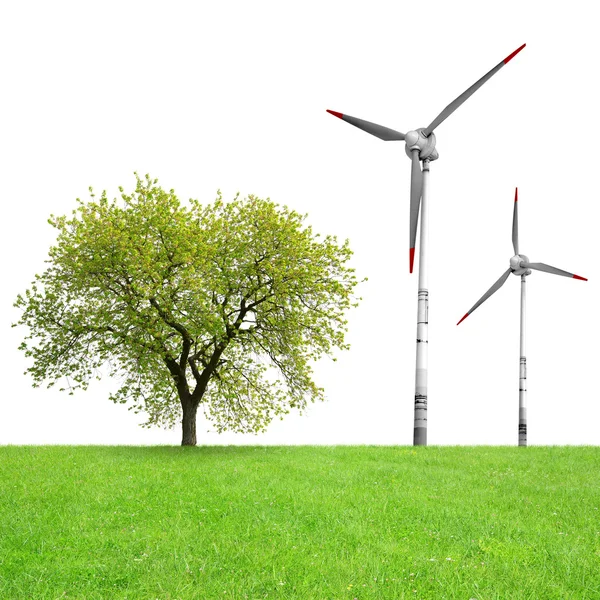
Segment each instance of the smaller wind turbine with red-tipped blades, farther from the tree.
[[513,248],[515,255],[510,259],[510,267],[502,274],[500,279],[471,307],[467,314],[457,323],[460,325],[480,304],[485,302],[494,292],[497,292],[508,276],[521,276],[521,344],[520,344],[520,362],[519,362],[519,446],[527,446],[527,360],[525,357],[525,277],[531,275],[531,269],[535,271],[545,271],[553,275],[562,275],[573,279],[587,281],[585,277],[579,277],[568,271],[545,265],[544,263],[530,263],[529,258],[524,254],[519,254],[519,216],[517,209],[518,190],[515,188],[515,207],[513,209]]

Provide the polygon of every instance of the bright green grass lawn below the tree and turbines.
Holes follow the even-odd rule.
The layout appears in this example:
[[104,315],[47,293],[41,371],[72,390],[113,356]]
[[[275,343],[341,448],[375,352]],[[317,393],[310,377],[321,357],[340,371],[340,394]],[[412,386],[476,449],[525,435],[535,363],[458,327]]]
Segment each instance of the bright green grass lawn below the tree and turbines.
[[0,598],[600,598],[597,447],[0,447]]

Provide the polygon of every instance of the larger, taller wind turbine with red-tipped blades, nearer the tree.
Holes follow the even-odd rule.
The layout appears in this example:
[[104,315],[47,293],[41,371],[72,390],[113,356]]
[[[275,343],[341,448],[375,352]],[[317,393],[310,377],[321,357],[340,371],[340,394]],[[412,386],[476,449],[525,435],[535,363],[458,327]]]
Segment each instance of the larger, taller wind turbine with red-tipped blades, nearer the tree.
[[[363,121],[350,115],[344,115],[333,110],[327,112],[335,117],[378,137],[386,142],[405,141],[405,151],[412,161],[410,178],[410,227],[409,227],[409,267],[413,270],[415,258],[415,242],[417,239],[417,222],[419,210],[421,212],[421,237],[419,243],[419,295],[417,308],[417,360],[415,371],[415,424],[413,443],[415,446],[427,445],[427,344],[428,344],[428,315],[429,315],[429,290],[427,274],[427,236],[428,236],[428,189],[429,189],[429,163],[438,158],[435,149],[434,129],[445,121],[461,104],[472,96],[488,79],[495,75],[505,64],[514,58],[525,44],[509,54],[499,62],[491,71],[476,81],[468,90],[453,100],[446,108],[425,128],[415,129],[408,133],[400,133],[389,127],[377,125],[370,121]],[[421,171],[420,163],[423,163]]]

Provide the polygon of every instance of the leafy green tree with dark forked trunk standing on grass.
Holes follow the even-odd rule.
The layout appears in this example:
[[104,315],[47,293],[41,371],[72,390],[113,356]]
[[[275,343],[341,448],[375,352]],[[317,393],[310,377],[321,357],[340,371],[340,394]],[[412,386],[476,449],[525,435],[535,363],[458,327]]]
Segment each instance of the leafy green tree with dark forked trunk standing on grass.
[[108,367],[110,399],[145,426],[181,419],[182,445],[196,444],[200,405],[219,432],[259,432],[322,400],[311,361],[349,347],[344,312],[358,300],[348,241],[319,239],[269,199],[185,206],[136,179],[120,202],[90,188],[72,218],[48,220],[49,266],[15,302],[33,385],[73,393]]

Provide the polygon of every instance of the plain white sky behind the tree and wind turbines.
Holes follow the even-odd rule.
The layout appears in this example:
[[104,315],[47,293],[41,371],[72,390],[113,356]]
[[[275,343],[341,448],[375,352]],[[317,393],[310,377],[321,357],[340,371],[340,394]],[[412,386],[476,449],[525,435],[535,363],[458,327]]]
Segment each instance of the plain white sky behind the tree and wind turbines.
[[[539,8],[536,8],[539,7]],[[438,127],[431,165],[429,443],[517,442],[519,280],[456,327],[521,252],[581,282],[528,278],[530,444],[598,444],[598,19],[590,2],[19,2],[0,11],[3,209],[0,444],[178,444],[107,400],[32,389],[12,304],[88,186],[133,171],[182,200],[254,193],[348,237],[364,300],[349,352],[322,360],[327,401],[264,435],[201,444],[411,444],[417,274],[410,162],[335,119],[426,126],[527,47]]]

